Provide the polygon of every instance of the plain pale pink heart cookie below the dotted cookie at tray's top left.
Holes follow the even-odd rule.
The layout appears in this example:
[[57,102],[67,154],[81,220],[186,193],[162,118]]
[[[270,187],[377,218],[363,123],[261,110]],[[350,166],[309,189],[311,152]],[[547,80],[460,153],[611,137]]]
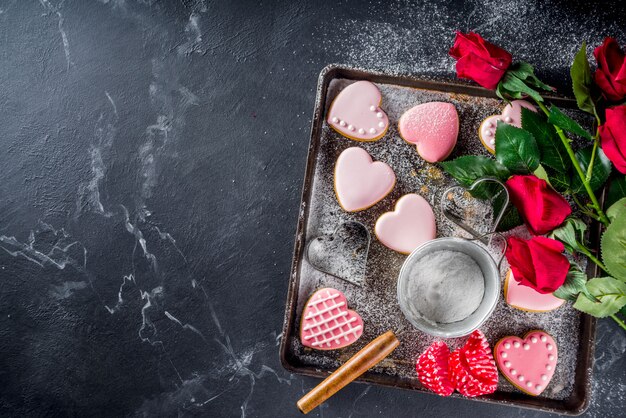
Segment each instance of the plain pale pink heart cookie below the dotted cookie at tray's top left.
[[358,212],[382,200],[396,184],[391,167],[372,157],[362,148],[344,150],[335,163],[335,194],[339,205],[348,212]]

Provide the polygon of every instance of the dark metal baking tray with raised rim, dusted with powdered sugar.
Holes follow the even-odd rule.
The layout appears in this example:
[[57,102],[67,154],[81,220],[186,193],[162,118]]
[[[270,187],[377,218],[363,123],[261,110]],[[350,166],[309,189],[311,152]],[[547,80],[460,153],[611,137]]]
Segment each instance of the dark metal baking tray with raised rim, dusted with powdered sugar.
[[[325,122],[332,100],[343,87],[356,80],[371,81],[381,90],[381,107],[389,115],[390,127],[379,141],[352,141],[334,132]],[[324,378],[376,336],[392,330],[398,336],[400,346],[358,381],[432,394],[421,386],[415,373],[415,361],[434,338],[415,330],[402,315],[396,301],[396,279],[405,256],[384,247],[373,234],[378,216],[392,210],[395,201],[403,194],[416,192],[433,206],[438,236],[463,236],[463,231],[444,221],[436,204],[442,190],[455,184],[454,180],[436,165],[423,161],[415,148],[404,142],[397,133],[400,115],[410,107],[428,101],[452,102],[459,112],[459,139],[449,158],[466,154],[489,155],[478,139],[477,130],[485,117],[500,113],[504,107],[493,92],[462,82],[392,76],[336,65],[322,70],[280,345],[281,362],[290,372]],[[560,97],[551,98],[551,101],[569,109],[571,115],[581,117],[575,110],[575,101]],[[396,173],[397,183],[392,193],[372,208],[346,213],[339,207],[333,193],[332,173],[339,153],[352,146],[365,148],[375,160],[387,162]],[[466,219],[474,221],[477,229],[489,228],[492,219],[489,205],[468,199],[460,210]],[[305,255],[306,246],[312,239],[332,234],[340,224],[350,221],[365,225],[372,237],[361,287],[314,269]],[[597,245],[598,236],[599,226],[595,225],[590,236],[591,242]],[[302,346],[299,340],[300,315],[304,303],[316,289],[326,286],[343,291],[350,309],[357,311],[365,324],[362,337],[341,350],[311,350]],[[531,313],[509,307],[501,297],[496,311],[481,327],[492,347],[506,335],[522,336],[532,329],[544,329],[557,340],[559,365],[550,385],[539,397],[520,392],[501,377],[495,393],[472,400],[559,414],[581,414],[590,400],[595,324],[594,318],[579,313],[567,303],[553,312]],[[448,339],[446,342],[452,350],[461,346],[465,339]],[[458,393],[452,396],[461,397]]]

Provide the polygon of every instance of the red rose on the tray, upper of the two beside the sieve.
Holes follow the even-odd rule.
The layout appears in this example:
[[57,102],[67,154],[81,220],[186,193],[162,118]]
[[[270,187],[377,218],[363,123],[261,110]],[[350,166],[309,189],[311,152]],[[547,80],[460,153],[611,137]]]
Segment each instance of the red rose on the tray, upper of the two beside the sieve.
[[506,188],[511,202],[535,235],[547,234],[572,213],[567,200],[536,176],[513,176],[507,180]]

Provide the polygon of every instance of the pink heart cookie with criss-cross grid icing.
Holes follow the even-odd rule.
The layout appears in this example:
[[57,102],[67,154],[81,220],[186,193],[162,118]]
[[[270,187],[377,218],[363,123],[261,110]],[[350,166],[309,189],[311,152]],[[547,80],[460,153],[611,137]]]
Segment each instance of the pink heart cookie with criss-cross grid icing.
[[339,290],[320,289],[306,302],[300,323],[302,345],[335,350],[352,344],[362,333],[361,316],[348,309],[346,296]]

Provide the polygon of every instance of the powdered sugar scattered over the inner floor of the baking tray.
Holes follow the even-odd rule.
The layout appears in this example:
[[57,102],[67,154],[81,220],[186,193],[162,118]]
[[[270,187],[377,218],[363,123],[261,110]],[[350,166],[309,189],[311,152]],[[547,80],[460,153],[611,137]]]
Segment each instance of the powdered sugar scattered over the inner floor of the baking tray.
[[[324,115],[339,91],[351,83],[343,79],[332,80],[325,103]],[[362,287],[322,273],[314,269],[306,259],[299,260],[299,288],[293,333],[288,336],[288,354],[292,364],[320,371],[332,371],[354,355],[359,349],[385,331],[392,330],[401,341],[400,346],[389,358],[375,367],[371,373],[379,376],[394,376],[405,385],[420,388],[415,373],[415,360],[433,341],[417,331],[404,318],[396,300],[396,280],[405,259],[375,239],[373,234],[376,219],[384,212],[393,210],[395,202],[406,193],[418,193],[433,207],[437,220],[437,236],[467,236],[460,228],[445,220],[440,212],[439,199],[445,189],[456,183],[435,164],[421,159],[415,146],[403,141],[397,132],[397,121],[404,111],[430,101],[453,103],[459,113],[459,141],[450,159],[466,154],[489,155],[480,143],[477,129],[487,116],[499,113],[503,104],[499,100],[468,96],[458,93],[422,90],[391,84],[378,84],[383,96],[381,107],[390,120],[389,132],[379,141],[356,142],[339,135],[323,123],[315,173],[312,179],[308,218],[305,220],[303,241],[308,243],[320,235],[332,234],[343,222],[358,221],[370,231],[372,242],[367,259],[367,268]],[[384,161],[396,173],[397,183],[393,191],[382,201],[357,213],[344,212],[337,203],[333,189],[334,164],[338,155],[346,148],[358,146],[367,150],[374,160]],[[458,203],[457,212],[478,231],[491,229],[492,213],[489,204],[473,200],[469,196]],[[446,198],[449,198],[446,196]],[[496,250],[492,249],[494,257]],[[506,263],[501,267],[504,278]],[[294,277],[293,280],[297,278]],[[301,312],[307,298],[321,287],[333,287],[345,293],[350,309],[358,312],[364,321],[364,332],[355,344],[335,351],[316,351],[302,346],[298,339]],[[534,329],[542,329],[552,335],[558,343],[559,364],[550,385],[541,398],[567,400],[574,396],[577,353],[580,340],[581,314],[569,303],[549,313],[524,312],[508,306],[500,297],[495,312],[481,327],[491,346],[507,335],[523,336]],[[464,344],[466,337],[449,339],[451,349]],[[504,378],[498,385],[500,392],[516,392],[517,389]]]

